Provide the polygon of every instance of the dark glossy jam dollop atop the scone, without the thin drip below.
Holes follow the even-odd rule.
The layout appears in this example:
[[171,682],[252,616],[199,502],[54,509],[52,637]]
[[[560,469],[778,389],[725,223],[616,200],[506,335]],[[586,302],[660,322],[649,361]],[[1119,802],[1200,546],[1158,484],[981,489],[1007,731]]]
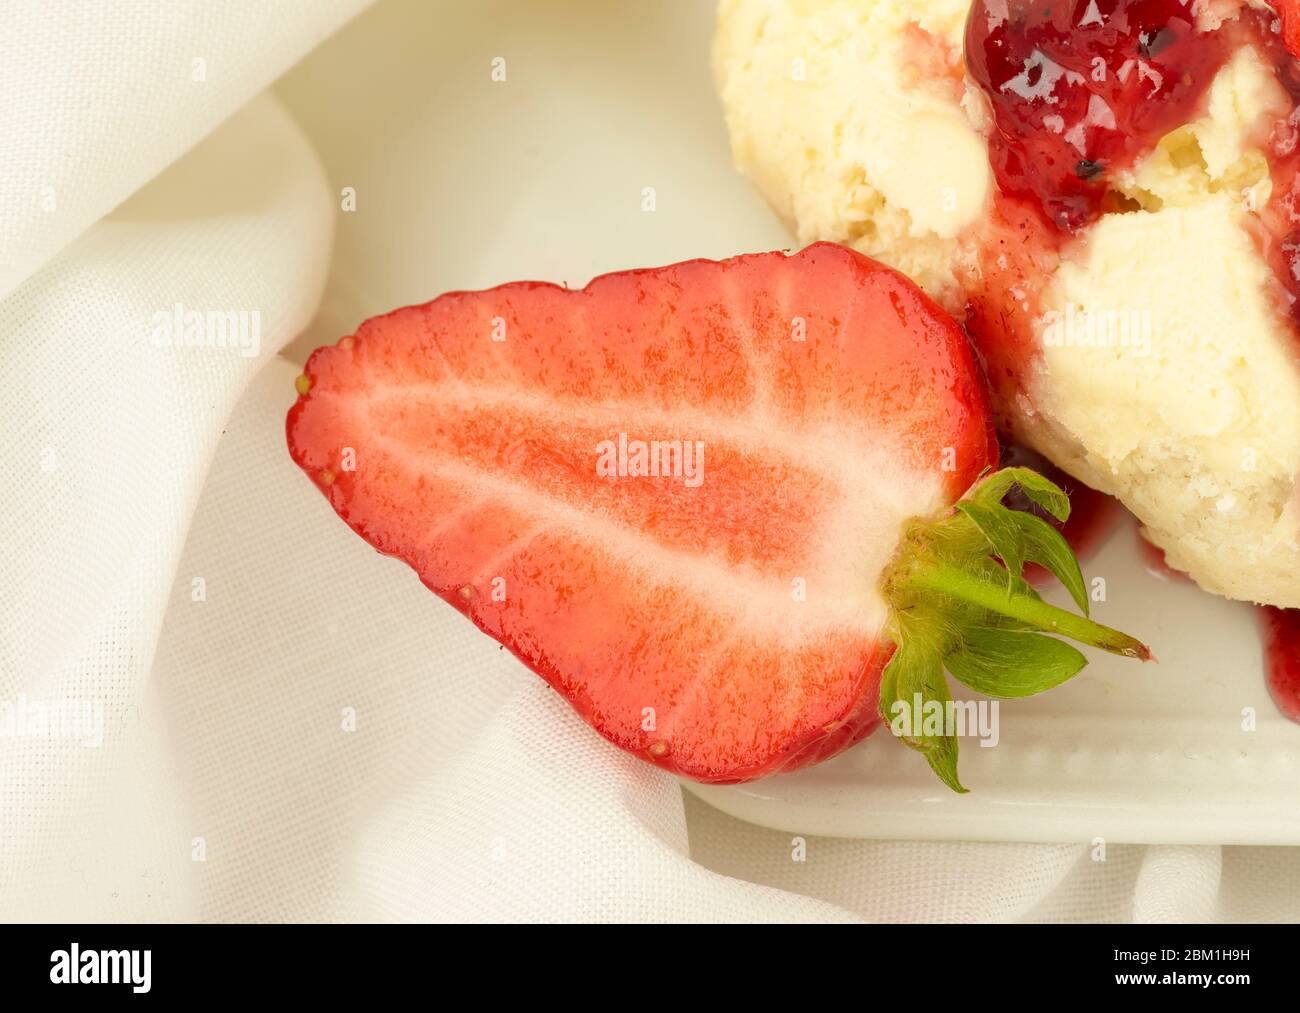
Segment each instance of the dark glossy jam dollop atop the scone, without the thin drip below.
[[1186,0],[976,0],[966,66],[1002,192],[1066,231],[1096,220],[1115,170],[1195,117],[1226,43]]

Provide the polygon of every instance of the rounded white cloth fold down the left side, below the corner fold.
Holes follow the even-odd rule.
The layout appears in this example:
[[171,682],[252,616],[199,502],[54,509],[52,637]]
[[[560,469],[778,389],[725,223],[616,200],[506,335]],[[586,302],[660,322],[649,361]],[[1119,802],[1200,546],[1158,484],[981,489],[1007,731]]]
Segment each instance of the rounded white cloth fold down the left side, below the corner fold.
[[9,917],[109,917],[94,880],[138,857],[104,840],[150,793],[124,778],[190,516],[243,388],[315,312],[333,224],[315,152],[264,98],[0,302],[20,423],[0,428],[0,698],[25,718],[0,737]]

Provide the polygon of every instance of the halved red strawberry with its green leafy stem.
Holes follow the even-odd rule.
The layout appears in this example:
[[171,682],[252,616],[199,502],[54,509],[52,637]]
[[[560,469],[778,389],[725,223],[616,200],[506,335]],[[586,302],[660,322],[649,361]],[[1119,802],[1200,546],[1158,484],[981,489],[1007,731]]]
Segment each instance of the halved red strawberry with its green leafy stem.
[[[1017,516],[998,505],[1011,473],[950,510],[997,454],[966,338],[838,246],[452,293],[318,349],[299,394],[292,456],[358,533],[607,739],[688,778],[858,741],[893,702],[894,642],[922,666],[978,648],[944,622],[1066,616],[1140,653],[1019,581],[1015,523],[993,536],[1011,572],[992,560],[979,525]],[[940,693],[898,667],[900,698]],[[958,787],[954,744],[914,744]]]

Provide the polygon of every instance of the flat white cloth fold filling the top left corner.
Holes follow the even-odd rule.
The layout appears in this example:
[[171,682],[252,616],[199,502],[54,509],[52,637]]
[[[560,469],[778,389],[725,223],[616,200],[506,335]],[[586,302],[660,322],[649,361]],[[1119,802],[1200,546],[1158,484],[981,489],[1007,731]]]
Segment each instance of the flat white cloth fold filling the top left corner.
[[0,299],[369,1],[8,8]]

